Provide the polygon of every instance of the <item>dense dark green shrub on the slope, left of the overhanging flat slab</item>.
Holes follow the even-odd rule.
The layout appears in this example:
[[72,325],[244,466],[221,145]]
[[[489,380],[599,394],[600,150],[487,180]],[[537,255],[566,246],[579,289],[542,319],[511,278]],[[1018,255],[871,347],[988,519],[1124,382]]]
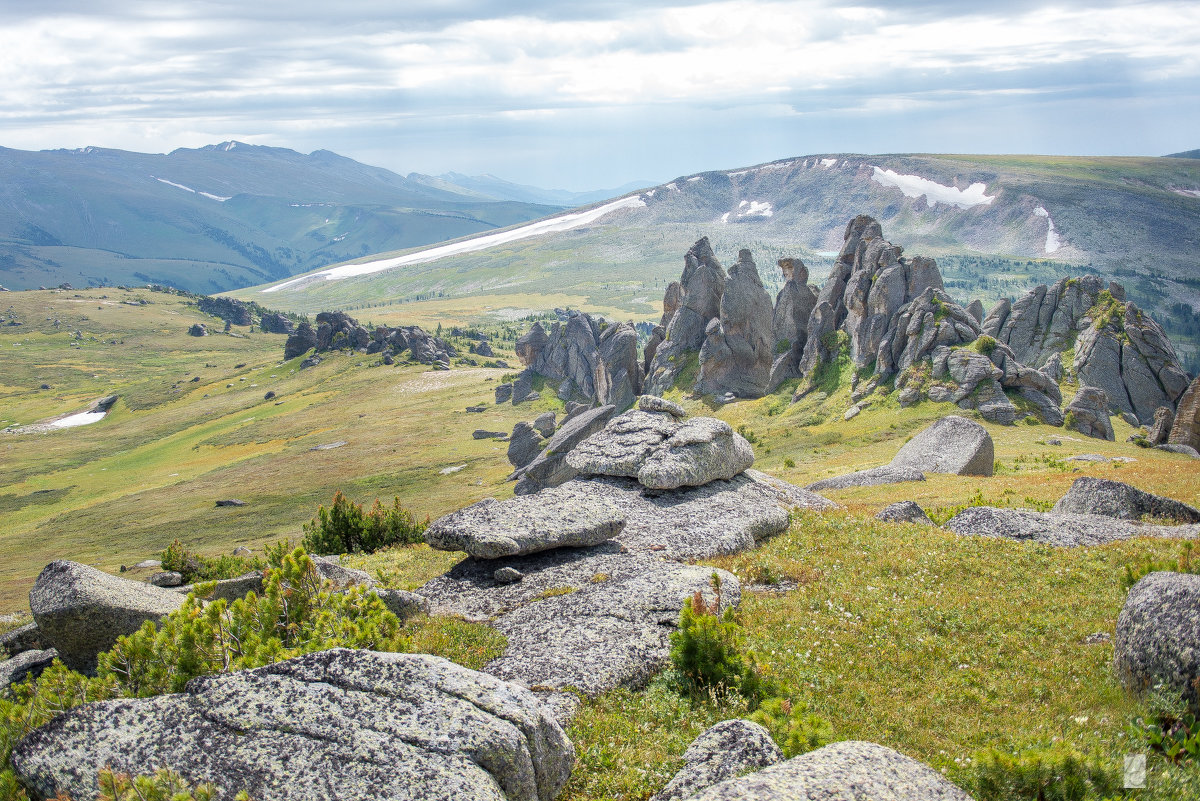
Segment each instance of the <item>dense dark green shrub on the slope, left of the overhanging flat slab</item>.
[[373,554],[391,546],[407,546],[425,541],[430,520],[419,522],[395,498],[385,508],[376,499],[371,511],[350,501],[342,493],[334,494],[329,508],[318,507],[317,517],[304,526],[304,547],[314,554]]

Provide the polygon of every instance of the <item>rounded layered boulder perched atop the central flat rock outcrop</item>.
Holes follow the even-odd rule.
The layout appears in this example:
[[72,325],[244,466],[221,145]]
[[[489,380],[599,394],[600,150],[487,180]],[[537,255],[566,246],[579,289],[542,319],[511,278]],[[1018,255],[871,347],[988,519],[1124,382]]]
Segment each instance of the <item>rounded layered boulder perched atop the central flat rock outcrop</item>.
[[676,489],[732,478],[754,464],[754,450],[715,417],[679,422],[637,409],[580,442],[566,463],[581,475],[628,476],[652,489]]

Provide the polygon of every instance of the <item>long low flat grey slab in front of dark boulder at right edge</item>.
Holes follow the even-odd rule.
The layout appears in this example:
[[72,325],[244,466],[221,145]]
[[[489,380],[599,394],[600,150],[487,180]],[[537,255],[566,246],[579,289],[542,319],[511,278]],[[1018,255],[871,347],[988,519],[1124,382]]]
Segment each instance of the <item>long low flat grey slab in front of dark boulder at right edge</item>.
[[1132,537],[1195,540],[1198,525],[1151,525],[1104,517],[1103,514],[1057,514],[1015,508],[972,506],[946,526],[955,534],[1040,542],[1048,546],[1102,546]]

